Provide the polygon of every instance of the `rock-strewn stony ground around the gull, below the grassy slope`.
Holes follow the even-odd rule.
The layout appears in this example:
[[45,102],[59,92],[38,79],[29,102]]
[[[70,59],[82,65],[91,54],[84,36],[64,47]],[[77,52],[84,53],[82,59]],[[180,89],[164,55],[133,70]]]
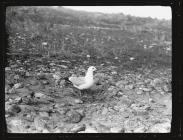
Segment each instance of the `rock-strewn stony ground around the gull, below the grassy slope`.
[[[172,117],[171,68],[127,70],[118,63],[30,57],[5,68],[10,133],[166,133]],[[133,60],[132,60],[133,61]],[[134,60],[135,61],[135,60]],[[96,85],[80,95],[65,79],[94,65]]]

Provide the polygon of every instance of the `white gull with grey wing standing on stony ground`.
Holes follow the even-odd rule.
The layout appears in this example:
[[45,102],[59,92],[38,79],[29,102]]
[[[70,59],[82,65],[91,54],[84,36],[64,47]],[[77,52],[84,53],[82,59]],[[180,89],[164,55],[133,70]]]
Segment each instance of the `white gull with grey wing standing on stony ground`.
[[69,77],[69,81],[72,82],[73,86],[77,89],[84,90],[89,89],[94,85],[93,72],[97,70],[94,66],[90,66],[86,72],[85,77]]

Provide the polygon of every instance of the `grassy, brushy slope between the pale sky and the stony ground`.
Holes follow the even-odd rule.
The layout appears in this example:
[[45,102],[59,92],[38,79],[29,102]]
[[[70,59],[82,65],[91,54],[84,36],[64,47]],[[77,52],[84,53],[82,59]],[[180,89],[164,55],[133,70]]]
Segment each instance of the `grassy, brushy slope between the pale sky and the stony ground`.
[[24,6],[7,8],[6,26],[10,54],[171,64],[167,20]]

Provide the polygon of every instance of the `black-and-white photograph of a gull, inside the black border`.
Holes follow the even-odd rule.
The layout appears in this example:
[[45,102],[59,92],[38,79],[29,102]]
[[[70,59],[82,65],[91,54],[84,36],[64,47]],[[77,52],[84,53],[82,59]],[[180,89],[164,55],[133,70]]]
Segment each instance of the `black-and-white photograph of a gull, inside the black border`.
[[8,133],[171,133],[170,6],[8,6]]

